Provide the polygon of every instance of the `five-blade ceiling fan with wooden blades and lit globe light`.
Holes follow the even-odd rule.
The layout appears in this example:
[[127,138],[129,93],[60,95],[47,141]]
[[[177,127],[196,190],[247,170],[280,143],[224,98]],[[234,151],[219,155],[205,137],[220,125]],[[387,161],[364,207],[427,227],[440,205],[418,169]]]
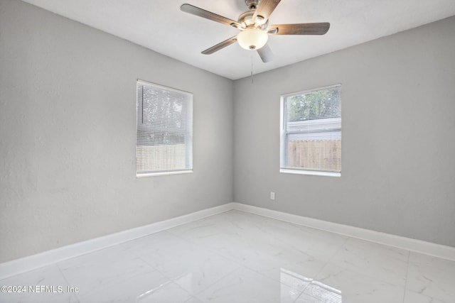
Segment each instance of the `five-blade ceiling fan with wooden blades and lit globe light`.
[[204,50],[210,55],[232,43],[239,43],[246,50],[257,50],[262,62],[273,59],[272,50],[267,45],[269,35],[323,35],[330,28],[330,23],[296,23],[269,26],[269,17],[281,0],[245,0],[248,10],[241,13],[238,21],[225,18],[216,13],[205,11],[191,4],[183,4],[180,9],[186,13],[206,18],[240,30],[240,33],[228,40]]

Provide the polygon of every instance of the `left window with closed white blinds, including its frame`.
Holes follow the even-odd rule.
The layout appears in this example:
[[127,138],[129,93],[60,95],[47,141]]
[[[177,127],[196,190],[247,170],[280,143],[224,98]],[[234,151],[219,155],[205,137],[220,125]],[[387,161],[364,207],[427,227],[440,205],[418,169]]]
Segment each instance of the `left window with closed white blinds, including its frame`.
[[193,94],[137,81],[136,175],[193,169]]

